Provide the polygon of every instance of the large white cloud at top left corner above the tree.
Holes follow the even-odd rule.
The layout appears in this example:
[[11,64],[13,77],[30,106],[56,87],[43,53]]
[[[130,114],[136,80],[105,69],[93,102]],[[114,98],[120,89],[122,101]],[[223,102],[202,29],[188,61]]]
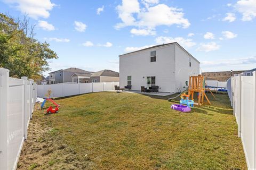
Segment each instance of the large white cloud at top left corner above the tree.
[[4,0],[4,2],[34,19],[48,18],[50,16],[49,11],[55,6],[50,0]]

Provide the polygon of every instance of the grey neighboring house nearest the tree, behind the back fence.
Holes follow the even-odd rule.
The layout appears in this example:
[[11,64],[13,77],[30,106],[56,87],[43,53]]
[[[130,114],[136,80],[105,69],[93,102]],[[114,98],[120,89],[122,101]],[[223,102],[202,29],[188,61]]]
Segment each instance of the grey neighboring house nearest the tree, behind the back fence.
[[[78,68],[69,68],[64,70],[58,70],[49,73],[49,84],[55,84],[55,83],[65,83],[65,82],[72,82],[71,75],[73,73],[80,73],[80,74],[91,74],[93,72],[85,71]],[[77,81],[77,80],[75,80]]]

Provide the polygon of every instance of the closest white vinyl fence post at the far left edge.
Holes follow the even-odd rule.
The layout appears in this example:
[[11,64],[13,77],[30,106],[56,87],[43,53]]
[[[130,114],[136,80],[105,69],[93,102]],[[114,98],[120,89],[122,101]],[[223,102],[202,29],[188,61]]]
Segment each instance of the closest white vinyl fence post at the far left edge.
[[0,68],[0,169],[8,169],[7,113],[9,70]]

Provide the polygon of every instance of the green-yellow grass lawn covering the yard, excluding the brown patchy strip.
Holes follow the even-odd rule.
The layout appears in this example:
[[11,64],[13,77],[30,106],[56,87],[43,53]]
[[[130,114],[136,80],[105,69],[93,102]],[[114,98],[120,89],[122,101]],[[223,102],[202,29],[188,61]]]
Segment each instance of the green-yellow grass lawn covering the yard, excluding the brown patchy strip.
[[246,169],[227,95],[190,113],[145,95],[98,92],[55,100],[34,113],[92,169]]

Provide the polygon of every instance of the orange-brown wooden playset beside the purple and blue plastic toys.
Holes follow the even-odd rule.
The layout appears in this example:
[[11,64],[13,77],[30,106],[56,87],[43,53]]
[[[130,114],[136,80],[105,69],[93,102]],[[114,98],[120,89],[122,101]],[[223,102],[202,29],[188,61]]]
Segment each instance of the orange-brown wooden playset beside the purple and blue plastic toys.
[[[206,89],[207,91],[211,90],[209,88]],[[190,76],[189,77],[189,85],[188,85],[188,96],[191,95],[191,100],[194,100],[194,92],[197,92],[198,97],[198,103],[194,103],[195,105],[203,105],[204,104],[204,98],[207,100],[207,102],[211,105],[210,100],[205,94],[205,78],[203,75],[197,75],[197,76]],[[212,92],[211,92],[212,94]],[[213,94],[212,94],[213,95]],[[213,95],[215,98],[215,96]]]

